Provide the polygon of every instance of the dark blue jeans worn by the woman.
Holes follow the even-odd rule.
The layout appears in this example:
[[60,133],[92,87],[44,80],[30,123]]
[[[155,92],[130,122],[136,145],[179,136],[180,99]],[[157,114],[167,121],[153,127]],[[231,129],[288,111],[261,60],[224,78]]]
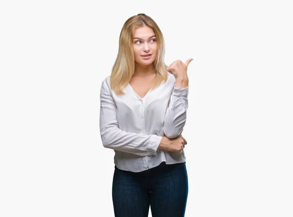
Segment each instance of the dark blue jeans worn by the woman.
[[166,164],[143,172],[115,166],[112,199],[115,217],[184,217],[188,196],[186,164]]

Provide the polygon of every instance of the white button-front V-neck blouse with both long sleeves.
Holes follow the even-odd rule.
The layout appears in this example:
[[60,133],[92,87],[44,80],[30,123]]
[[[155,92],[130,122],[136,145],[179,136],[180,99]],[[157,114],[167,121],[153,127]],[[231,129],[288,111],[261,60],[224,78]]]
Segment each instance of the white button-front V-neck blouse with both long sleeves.
[[161,162],[185,162],[183,152],[157,149],[163,136],[175,138],[186,123],[188,87],[177,88],[176,79],[168,73],[167,82],[144,98],[130,84],[125,95],[110,89],[110,76],[101,85],[100,133],[105,148],[115,151],[114,164],[118,169],[142,172]]

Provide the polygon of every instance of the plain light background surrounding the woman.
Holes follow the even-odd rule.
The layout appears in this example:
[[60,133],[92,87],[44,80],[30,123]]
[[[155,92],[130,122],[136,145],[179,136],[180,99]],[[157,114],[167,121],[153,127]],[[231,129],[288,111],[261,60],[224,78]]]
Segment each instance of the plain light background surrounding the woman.
[[[100,88],[145,13],[188,66],[186,217],[293,216],[287,0],[0,3],[0,216],[114,217]],[[150,217],[149,212],[149,217]]]

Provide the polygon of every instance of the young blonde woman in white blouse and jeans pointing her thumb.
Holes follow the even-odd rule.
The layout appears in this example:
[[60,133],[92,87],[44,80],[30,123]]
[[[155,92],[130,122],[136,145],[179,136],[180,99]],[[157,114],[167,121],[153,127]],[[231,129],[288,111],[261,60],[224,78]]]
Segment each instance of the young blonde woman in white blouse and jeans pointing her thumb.
[[115,217],[184,217],[188,176],[181,133],[188,109],[186,63],[164,63],[163,34],[150,17],[126,20],[111,75],[101,85],[100,131],[115,151]]

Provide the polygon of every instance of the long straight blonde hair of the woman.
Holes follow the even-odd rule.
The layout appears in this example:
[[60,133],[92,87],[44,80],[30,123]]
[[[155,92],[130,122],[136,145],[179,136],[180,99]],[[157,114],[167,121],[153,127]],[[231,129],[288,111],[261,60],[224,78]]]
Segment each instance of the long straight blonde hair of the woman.
[[137,28],[144,26],[148,26],[154,31],[157,41],[157,57],[152,63],[156,76],[155,83],[151,89],[155,89],[163,81],[167,81],[168,66],[164,61],[165,41],[163,34],[154,20],[145,14],[138,14],[126,20],[120,33],[118,55],[110,76],[110,87],[116,95],[124,94],[123,89],[128,85],[134,74],[133,33]]

